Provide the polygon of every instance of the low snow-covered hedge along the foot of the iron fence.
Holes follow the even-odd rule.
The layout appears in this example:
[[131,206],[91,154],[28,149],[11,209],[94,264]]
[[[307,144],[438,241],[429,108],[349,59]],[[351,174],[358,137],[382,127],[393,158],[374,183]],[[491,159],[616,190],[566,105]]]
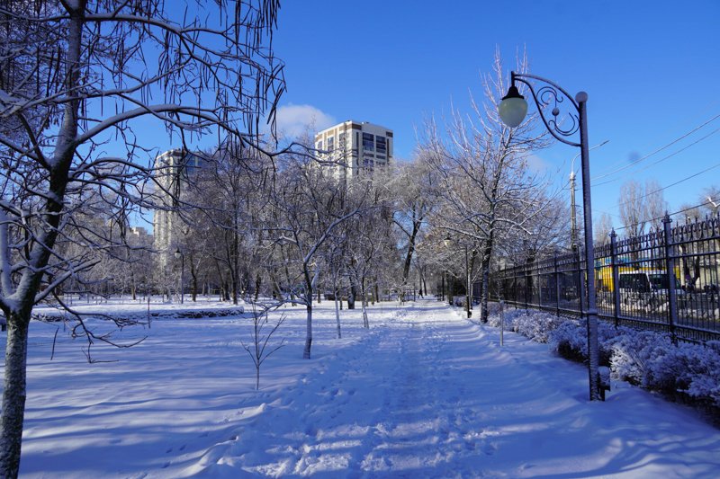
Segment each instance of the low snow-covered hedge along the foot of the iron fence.
[[[547,342],[563,357],[588,357],[587,326],[532,310],[506,309],[505,328]],[[499,311],[491,310],[489,324],[500,326]],[[638,331],[598,324],[600,363],[609,366],[613,378],[628,381],[666,395],[688,395],[700,404],[720,407],[720,342],[705,346],[672,344],[667,333]]]

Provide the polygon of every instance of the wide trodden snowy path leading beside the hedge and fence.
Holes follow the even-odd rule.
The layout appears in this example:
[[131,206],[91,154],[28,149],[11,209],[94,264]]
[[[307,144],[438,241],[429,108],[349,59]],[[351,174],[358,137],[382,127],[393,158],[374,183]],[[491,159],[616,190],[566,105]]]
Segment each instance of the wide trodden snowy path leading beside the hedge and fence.
[[236,438],[184,474],[233,477],[239,468],[325,477],[720,472],[716,430],[691,417],[689,423],[678,423],[677,415],[657,421],[654,408],[665,404],[635,389],[589,404],[581,366],[512,334],[500,350],[494,332],[483,333],[437,303],[421,305],[401,311],[362,349],[343,351],[318,375],[265,404]]

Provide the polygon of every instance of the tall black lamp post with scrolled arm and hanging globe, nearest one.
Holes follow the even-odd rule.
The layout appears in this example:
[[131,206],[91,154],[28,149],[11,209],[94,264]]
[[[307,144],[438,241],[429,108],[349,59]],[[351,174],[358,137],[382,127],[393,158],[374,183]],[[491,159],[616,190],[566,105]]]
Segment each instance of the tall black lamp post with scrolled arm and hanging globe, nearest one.
[[[535,82],[542,84],[536,89]],[[588,117],[586,103],[588,93],[580,92],[574,98],[561,86],[541,76],[521,74],[512,72],[510,74],[510,87],[508,94],[502,98],[499,106],[500,119],[510,128],[518,127],[525,120],[527,115],[527,102],[525,97],[518,92],[516,82],[526,84],[533,101],[536,104],[540,119],[543,120],[545,128],[558,141],[570,146],[578,146],[581,149],[581,170],[582,170],[582,208],[585,220],[585,268],[588,278],[588,373],[590,376],[590,401],[600,399],[599,388],[599,347],[598,347],[598,306],[595,298],[595,274],[594,256],[592,244],[592,217],[590,201],[590,155],[588,146]],[[562,127],[558,122],[560,107],[564,106],[565,100],[569,101],[572,109],[569,108],[567,119],[570,120],[568,127]],[[552,105],[552,118],[545,117],[545,107]],[[580,142],[573,141],[576,134],[580,136]]]

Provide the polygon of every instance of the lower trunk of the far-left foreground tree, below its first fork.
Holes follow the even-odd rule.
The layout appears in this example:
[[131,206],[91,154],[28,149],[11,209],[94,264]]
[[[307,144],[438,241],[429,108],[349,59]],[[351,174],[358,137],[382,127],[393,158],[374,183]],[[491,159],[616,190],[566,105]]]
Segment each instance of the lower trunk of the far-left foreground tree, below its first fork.
[[0,424],[0,475],[17,477],[20,469],[20,450],[23,444],[25,417],[26,365],[28,348],[28,317],[11,314],[7,319],[7,346],[3,391],[3,417]]

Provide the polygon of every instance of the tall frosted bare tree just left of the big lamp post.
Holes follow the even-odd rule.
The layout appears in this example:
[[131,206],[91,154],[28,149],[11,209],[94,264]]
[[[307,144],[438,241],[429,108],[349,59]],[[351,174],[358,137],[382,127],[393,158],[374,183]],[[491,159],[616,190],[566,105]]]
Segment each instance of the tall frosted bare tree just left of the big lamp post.
[[[518,65],[519,71],[527,62]],[[500,54],[492,75],[483,79],[486,102],[472,101],[473,118],[455,112],[446,138],[430,122],[423,148],[437,176],[434,191],[444,203],[436,225],[448,235],[464,236],[480,254],[481,321],[488,317],[490,268],[496,242],[510,230],[527,229],[527,221],[545,208],[538,194],[541,182],[527,167],[527,155],[544,145],[531,133],[532,120],[509,129],[500,120],[495,102],[507,88]]]

